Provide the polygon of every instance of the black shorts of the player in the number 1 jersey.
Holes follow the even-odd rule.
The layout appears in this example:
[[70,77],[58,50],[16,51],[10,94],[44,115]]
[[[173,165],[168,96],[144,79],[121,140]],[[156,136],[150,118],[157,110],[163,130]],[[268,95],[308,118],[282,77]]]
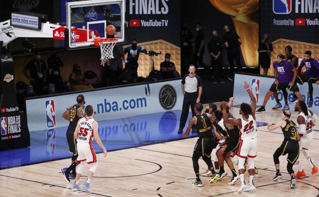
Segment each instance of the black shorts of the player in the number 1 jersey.
[[193,155],[211,157],[214,143],[214,137],[199,138],[195,144]]

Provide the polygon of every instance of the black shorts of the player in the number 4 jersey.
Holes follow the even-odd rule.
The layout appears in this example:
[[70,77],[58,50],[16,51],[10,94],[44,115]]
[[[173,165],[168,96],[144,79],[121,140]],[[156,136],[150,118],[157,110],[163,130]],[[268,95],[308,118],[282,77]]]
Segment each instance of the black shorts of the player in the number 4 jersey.
[[297,142],[283,141],[277,150],[281,155],[287,156],[287,161],[294,164],[299,158],[299,144]]

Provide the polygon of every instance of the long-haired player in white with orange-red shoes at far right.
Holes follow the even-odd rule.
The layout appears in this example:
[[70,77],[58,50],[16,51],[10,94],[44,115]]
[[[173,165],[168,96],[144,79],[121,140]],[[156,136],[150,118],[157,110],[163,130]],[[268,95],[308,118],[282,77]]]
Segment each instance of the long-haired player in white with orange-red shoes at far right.
[[[311,141],[313,139],[313,126],[319,122],[318,117],[308,110],[307,105],[304,101],[298,101],[295,106],[294,106],[294,111],[298,112],[298,118],[297,122],[299,124],[299,129],[298,133],[301,135],[300,140],[299,140],[299,146],[300,146],[300,151],[304,154],[305,158],[309,161],[312,171],[312,174],[315,174],[318,172],[318,168],[315,166],[308,147],[311,144]],[[298,160],[294,164],[298,172],[295,174],[295,177],[303,177],[306,176],[306,173],[303,169],[303,167],[300,164],[300,161]]]

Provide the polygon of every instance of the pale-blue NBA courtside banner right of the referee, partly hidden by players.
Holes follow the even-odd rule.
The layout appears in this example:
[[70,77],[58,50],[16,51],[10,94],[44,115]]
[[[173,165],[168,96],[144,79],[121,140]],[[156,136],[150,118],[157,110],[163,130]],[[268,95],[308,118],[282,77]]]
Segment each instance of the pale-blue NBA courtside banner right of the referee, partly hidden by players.
[[[270,89],[272,83],[274,83],[275,78],[272,77],[262,77],[261,75],[242,75],[242,74],[235,74],[235,81],[234,81],[234,97],[236,98],[237,103],[250,103],[249,96],[245,91],[243,85],[244,81],[247,81],[250,90],[252,90],[253,94],[255,95],[257,106],[262,105],[265,95],[267,91]],[[299,91],[304,98],[304,101],[308,104],[309,102],[309,92],[308,92],[308,84],[300,85],[298,84]],[[293,93],[287,90],[288,92],[288,102],[290,102],[293,98]],[[313,84],[313,105],[309,108],[316,114],[319,114],[319,96],[316,94],[319,92],[319,85]],[[284,104],[284,97],[282,92],[278,93],[278,99],[281,104]],[[276,105],[276,100],[274,96],[271,95],[269,101],[267,102],[266,108],[270,108]],[[290,105],[290,110],[293,109],[294,105]]]

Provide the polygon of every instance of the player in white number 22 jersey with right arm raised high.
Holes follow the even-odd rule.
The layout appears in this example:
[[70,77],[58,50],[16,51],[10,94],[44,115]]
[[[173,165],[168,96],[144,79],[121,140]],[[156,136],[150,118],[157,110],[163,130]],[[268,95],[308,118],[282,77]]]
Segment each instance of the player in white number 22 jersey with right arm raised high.
[[[257,127],[256,127],[256,98],[254,97],[252,91],[249,89],[248,83],[244,82],[245,90],[247,91],[252,104],[247,103],[240,104],[239,114],[242,115],[240,119],[229,119],[226,112],[226,102],[222,102],[223,106],[223,119],[225,123],[237,125],[240,129],[240,144],[238,149],[238,171],[241,182],[241,187],[238,193],[242,191],[250,191],[256,189],[254,186],[254,175],[255,175],[255,165],[254,158],[257,156]],[[244,163],[247,158],[248,172],[249,172],[249,184],[245,185],[244,180]]]

